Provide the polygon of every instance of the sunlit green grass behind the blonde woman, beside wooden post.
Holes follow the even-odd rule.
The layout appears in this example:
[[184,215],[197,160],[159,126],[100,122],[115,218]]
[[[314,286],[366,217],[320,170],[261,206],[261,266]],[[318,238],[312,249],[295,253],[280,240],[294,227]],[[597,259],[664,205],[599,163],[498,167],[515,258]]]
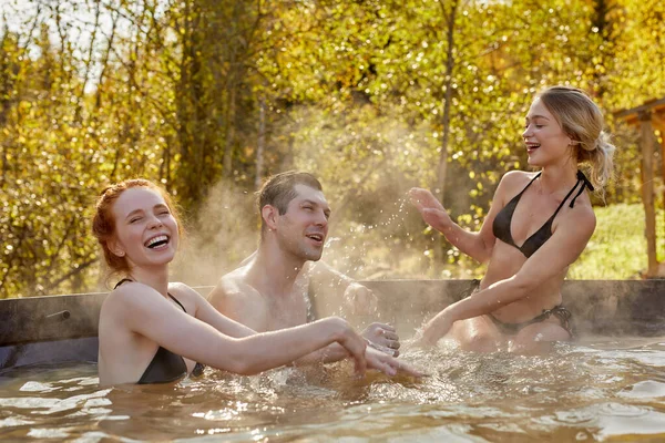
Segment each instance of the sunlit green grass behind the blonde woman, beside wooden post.
[[[569,279],[635,279],[646,271],[646,237],[642,204],[596,207],[596,230],[571,266]],[[658,259],[665,250],[663,212],[656,213]]]

